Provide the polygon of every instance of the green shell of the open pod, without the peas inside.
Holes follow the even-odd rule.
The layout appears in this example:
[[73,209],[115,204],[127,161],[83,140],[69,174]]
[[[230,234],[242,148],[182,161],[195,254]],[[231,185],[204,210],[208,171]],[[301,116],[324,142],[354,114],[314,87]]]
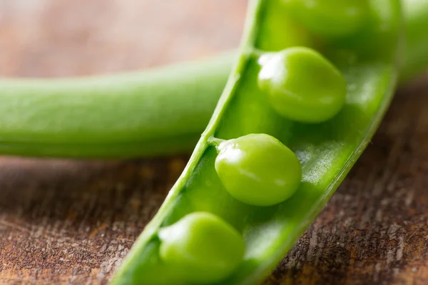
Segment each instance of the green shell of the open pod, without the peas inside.
[[[240,57],[208,128],[112,284],[188,284],[159,257],[158,231],[198,211],[221,217],[245,241],[243,260],[218,284],[258,284],[265,279],[325,207],[370,142],[392,99],[402,42],[399,1],[372,0],[370,4],[372,25],[356,38],[355,46],[349,46],[336,39],[302,36],[306,31],[290,21],[279,0],[250,1]],[[287,120],[272,110],[258,88],[259,54],[290,46],[315,48],[345,77],[346,103],[335,118],[317,124]],[[250,206],[231,197],[220,182],[213,142],[250,133],[277,138],[300,160],[300,187],[285,202]]]

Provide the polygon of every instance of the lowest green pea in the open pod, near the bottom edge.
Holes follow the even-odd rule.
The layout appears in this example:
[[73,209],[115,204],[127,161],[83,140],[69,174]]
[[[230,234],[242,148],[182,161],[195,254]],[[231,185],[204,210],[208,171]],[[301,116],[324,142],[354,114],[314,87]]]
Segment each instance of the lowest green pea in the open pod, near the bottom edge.
[[225,279],[245,252],[238,231],[208,212],[188,214],[158,235],[161,259],[188,282],[207,284]]

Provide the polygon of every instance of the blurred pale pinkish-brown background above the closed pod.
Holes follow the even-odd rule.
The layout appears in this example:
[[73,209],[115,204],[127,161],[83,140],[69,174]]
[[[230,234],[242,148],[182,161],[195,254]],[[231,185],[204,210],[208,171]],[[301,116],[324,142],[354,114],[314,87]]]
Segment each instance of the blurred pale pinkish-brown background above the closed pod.
[[235,48],[245,0],[0,0],[0,76],[111,73]]

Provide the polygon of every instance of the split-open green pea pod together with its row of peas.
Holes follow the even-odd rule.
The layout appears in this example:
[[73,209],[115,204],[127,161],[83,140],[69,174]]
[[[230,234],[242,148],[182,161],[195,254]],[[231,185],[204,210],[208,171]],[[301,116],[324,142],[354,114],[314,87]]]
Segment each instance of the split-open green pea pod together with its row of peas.
[[397,84],[397,0],[250,1],[228,84],[113,284],[257,284],[325,207]]

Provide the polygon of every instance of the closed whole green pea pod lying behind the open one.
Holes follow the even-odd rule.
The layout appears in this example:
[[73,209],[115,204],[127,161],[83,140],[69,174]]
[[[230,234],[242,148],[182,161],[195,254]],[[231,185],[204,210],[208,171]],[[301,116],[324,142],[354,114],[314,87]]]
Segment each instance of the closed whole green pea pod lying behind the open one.
[[[428,66],[428,1],[402,2],[404,83]],[[188,152],[213,113],[233,58],[226,53],[112,76],[0,79],[0,153],[123,158]]]

